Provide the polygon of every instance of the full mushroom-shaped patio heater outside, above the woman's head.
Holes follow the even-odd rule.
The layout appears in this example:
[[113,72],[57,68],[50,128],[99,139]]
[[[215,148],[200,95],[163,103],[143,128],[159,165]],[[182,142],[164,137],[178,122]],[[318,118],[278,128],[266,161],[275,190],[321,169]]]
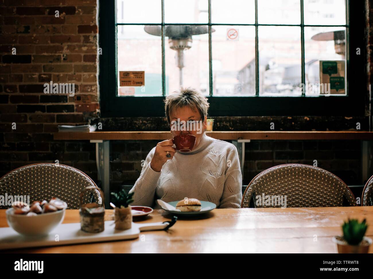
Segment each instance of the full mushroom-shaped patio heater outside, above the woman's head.
[[[145,25],[145,32],[161,36],[159,25]],[[215,30],[211,28],[211,32]],[[192,35],[206,34],[209,27],[205,25],[168,25],[164,27],[164,36],[168,37],[170,49],[176,50],[176,66],[179,68],[179,84],[183,85],[184,50],[192,47]]]

